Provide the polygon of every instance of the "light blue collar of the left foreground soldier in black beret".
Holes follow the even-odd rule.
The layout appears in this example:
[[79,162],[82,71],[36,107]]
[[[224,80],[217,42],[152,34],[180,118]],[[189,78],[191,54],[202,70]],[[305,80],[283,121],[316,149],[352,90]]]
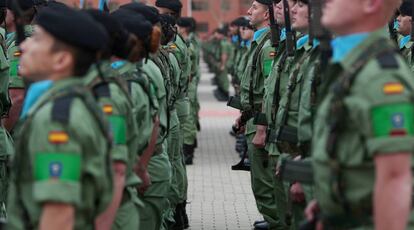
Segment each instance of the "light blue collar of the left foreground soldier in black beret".
[[44,95],[53,85],[51,80],[38,81],[30,85],[23,102],[20,118],[24,119],[33,105]]

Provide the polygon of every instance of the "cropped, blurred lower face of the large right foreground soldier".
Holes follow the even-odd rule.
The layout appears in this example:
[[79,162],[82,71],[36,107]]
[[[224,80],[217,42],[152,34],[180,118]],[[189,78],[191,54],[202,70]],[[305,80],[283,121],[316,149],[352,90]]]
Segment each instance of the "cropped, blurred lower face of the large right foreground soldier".
[[364,21],[361,0],[326,0],[322,24],[337,35],[348,34]]

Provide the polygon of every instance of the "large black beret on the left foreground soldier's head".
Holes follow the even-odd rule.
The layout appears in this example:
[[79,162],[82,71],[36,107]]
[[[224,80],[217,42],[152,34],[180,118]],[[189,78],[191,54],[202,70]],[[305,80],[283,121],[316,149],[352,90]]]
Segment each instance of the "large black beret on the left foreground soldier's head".
[[87,51],[102,50],[108,42],[108,34],[100,24],[69,7],[47,7],[39,13],[36,23],[56,39]]

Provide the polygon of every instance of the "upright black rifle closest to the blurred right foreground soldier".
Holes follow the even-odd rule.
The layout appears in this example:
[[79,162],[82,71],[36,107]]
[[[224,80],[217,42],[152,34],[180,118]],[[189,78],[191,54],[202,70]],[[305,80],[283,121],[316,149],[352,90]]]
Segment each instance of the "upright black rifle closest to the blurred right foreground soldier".
[[313,37],[320,42],[321,68],[323,72],[328,66],[329,59],[332,56],[331,34],[321,23],[323,0],[310,0],[309,5],[311,6],[310,17],[312,17],[310,28]]

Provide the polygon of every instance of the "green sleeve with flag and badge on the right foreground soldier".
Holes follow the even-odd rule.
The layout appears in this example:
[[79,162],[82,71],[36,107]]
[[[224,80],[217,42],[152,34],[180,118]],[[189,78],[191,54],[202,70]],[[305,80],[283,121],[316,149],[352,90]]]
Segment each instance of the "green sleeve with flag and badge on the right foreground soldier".
[[[368,110],[367,148],[370,155],[413,152],[414,104],[409,79],[398,72],[383,71],[365,85]],[[408,84],[407,84],[408,83]],[[411,84],[412,85],[412,84]],[[363,131],[364,132],[364,131]]]

